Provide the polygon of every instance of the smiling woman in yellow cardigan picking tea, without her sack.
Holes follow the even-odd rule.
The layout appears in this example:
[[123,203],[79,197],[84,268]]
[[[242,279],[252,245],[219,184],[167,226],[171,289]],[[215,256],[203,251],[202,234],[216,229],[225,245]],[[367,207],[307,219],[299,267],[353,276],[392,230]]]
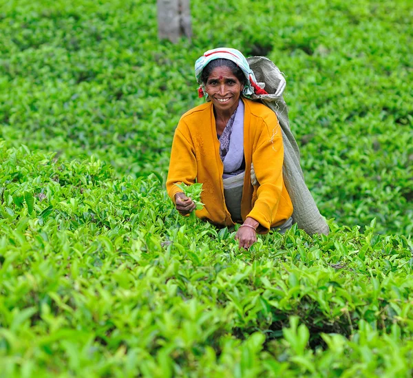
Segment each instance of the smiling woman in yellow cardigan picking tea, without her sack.
[[176,209],[187,215],[195,204],[175,184],[202,182],[204,209],[196,211],[198,218],[221,226],[242,223],[235,239],[248,249],[257,232],[287,229],[292,223],[293,204],[282,177],[282,132],[271,109],[248,100],[266,92],[238,50],[205,52],[195,63],[195,76],[200,96],[209,102],[189,110],[178,123],[167,191]]

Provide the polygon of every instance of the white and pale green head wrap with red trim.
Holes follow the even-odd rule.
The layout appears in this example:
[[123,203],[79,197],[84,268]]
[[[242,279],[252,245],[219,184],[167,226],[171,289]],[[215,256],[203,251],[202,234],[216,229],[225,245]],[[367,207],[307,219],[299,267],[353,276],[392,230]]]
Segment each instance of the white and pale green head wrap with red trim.
[[197,83],[200,84],[200,87],[198,88],[198,94],[200,97],[205,96],[205,98],[208,98],[208,94],[205,90],[204,83],[202,83],[201,76],[202,71],[207,64],[214,59],[228,59],[241,68],[246,78],[244,90],[242,90],[242,94],[245,97],[249,98],[251,94],[268,94],[260,87],[260,85],[258,85],[253,70],[251,70],[245,56],[242,55],[240,51],[231,48],[216,48],[213,50],[208,50],[195,62],[195,78]]

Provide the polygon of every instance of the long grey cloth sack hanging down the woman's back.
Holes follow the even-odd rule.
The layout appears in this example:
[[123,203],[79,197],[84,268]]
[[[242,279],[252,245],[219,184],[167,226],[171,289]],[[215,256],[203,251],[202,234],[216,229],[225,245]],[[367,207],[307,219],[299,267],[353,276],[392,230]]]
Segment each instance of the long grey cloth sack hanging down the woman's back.
[[[268,94],[251,96],[252,100],[262,101],[277,114],[282,129],[284,144],[283,177],[291,202],[293,202],[293,222],[308,234],[324,233],[329,229],[326,220],[321,216],[317,205],[304,181],[304,174],[299,164],[299,148],[290,130],[288,109],[282,93],[286,80],[278,67],[264,56],[252,56],[246,59],[253,70],[257,81],[265,84]],[[264,85],[263,85],[264,86]]]

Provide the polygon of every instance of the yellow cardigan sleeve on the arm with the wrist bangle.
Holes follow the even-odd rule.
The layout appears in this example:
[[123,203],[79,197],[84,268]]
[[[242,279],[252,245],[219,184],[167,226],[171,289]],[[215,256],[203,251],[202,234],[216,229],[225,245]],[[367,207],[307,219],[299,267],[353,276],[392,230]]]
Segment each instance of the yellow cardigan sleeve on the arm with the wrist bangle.
[[279,199],[283,188],[282,165],[284,162],[284,145],[282,131],[277,117],[263,120],[263,127],[253,150],[253,165],[259,187],[257,200],[248,214],[260,222],[262,231],[269,231],[277,213]]

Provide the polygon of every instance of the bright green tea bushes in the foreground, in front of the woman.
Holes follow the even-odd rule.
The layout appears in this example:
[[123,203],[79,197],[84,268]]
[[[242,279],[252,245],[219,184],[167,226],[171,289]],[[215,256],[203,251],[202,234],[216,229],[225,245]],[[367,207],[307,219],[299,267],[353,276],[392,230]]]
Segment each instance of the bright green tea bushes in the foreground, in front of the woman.
[[156,176],[4,142],[0,156],[7,376],[413,371],[404,236],[293,227],[240,251],[235,231],[180,217]]

